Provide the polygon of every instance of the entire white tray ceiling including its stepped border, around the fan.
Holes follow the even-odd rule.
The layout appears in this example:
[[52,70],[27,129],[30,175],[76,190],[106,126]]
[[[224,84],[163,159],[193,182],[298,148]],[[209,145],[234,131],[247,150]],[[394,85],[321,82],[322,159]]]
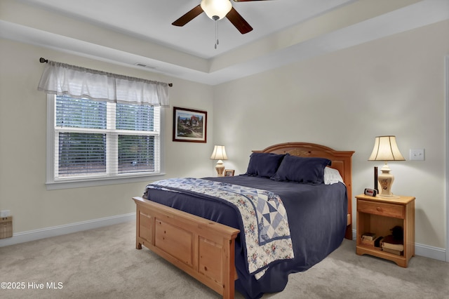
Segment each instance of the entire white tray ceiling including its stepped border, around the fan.
[[215,49],[206,13],[171,25],[200,1],[0,0],[0,37],[215,85],[449,18],[449,0],[232,1],[254,29],[219,20]]

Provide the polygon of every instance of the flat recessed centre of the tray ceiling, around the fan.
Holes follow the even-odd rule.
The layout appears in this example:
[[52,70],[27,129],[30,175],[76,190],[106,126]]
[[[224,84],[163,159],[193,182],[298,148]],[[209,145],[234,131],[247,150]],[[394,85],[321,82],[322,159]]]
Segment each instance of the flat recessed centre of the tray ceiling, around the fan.
[[232,4],[253,32],[240,34],[227,19],[219,20],[220,44],[215,50],[215,21],[201,13],[184,27],[171,25],[201,0],[24,0],[70,18],[81,19],[179,51],[213,58],[243,44],[330,11],[351,0],[272,0]]

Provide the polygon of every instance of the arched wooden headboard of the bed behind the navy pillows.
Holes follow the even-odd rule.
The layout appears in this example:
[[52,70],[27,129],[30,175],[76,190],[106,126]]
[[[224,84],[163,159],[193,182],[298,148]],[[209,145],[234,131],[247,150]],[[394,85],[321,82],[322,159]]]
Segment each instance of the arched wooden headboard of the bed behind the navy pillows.
[[286,142],[272,145],[264,150],[253,152],[272,152],[274,154],[290,154],[298,157],[321,157],[332,161],[332,168],[342,175],[348,195],[348,227],[346,239],[352,239],[352,155],[354,151],[337,151],[324,145],[307,142]]

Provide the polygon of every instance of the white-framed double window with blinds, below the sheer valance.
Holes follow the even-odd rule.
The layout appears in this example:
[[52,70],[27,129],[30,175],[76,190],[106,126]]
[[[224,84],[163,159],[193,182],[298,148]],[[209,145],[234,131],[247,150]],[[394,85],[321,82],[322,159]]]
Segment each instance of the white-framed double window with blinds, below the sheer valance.
[[160,107],[48,95],[48,182],[161,173]]

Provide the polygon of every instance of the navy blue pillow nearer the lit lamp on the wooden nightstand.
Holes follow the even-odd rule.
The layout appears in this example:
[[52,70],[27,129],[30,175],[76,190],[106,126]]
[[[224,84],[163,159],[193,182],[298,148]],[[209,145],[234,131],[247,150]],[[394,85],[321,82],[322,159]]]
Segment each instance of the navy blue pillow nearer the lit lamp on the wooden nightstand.
[[324,168],[330,164],[325,158],[287,155],[271,179],[319,185],[324,182]]

